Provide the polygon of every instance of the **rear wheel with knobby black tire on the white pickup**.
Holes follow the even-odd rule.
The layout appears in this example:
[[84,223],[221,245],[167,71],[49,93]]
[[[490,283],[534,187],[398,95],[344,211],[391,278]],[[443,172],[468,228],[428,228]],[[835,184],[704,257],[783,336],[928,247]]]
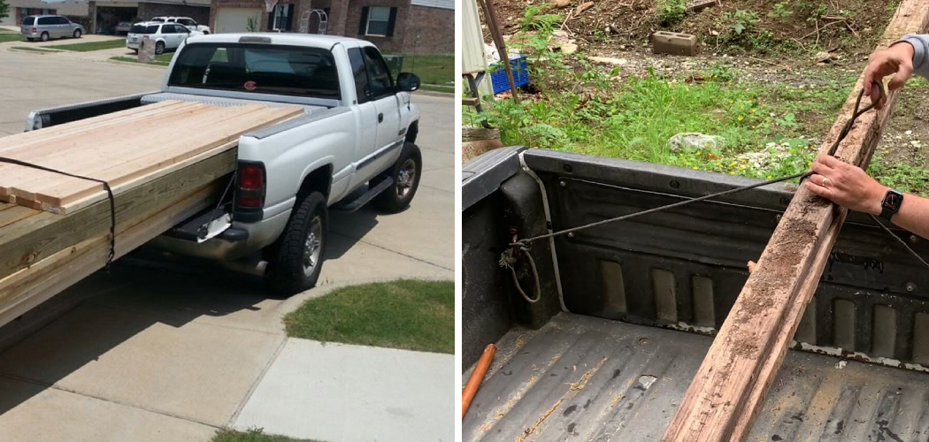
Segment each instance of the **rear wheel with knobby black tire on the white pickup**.
[[312,192],[294,207],[287,228],[272,246],[268,286],[285,296],[312,289],[320,279],[328,233],[326,198]]

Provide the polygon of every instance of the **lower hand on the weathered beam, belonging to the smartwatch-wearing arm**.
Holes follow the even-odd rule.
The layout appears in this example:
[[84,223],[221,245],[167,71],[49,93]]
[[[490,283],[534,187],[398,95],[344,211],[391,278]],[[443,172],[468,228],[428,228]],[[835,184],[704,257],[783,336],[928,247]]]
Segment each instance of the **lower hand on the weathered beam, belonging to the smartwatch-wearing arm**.
[[849,210],[881,215],[881,201],[888,188],[860,167],[831,155],[819,155],[811,168],[813,175],[806,180],[807,189]]

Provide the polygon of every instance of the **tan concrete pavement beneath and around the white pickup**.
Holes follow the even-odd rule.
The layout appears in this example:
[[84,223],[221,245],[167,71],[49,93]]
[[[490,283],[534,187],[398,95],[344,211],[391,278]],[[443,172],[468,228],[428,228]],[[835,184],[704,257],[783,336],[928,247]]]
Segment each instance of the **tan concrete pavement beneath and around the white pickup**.
[[[0,136],[20,132],[30,110],[153,90],[162,74],[0,50]],[[287,342],[281,316],[303,300],[371,280],[453,279],[453,101],[413,100],[425,169],[412,207],[333,214],[320,287],[268,299],[259,280],[208,265],[124,258],[62,293],[76,307],[0,353],[0,438],[208,440],[235,422]]]

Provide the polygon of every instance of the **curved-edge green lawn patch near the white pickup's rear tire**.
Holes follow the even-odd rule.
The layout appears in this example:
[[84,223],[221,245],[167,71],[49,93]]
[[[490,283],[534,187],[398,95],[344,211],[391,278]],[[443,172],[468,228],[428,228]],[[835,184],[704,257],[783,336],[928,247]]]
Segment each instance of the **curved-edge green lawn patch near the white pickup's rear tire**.
[[308,300],[284,324],[292,337],[453,354],[454,293],[452,281],[345,287]]

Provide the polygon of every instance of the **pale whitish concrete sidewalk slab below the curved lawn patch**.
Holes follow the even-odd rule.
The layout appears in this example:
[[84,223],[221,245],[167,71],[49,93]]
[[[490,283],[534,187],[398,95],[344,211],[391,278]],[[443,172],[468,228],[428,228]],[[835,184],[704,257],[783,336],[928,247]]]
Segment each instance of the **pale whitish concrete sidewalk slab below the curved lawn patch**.
[[314,440],[454,440],[453,355],[288,338],[235,420]]

